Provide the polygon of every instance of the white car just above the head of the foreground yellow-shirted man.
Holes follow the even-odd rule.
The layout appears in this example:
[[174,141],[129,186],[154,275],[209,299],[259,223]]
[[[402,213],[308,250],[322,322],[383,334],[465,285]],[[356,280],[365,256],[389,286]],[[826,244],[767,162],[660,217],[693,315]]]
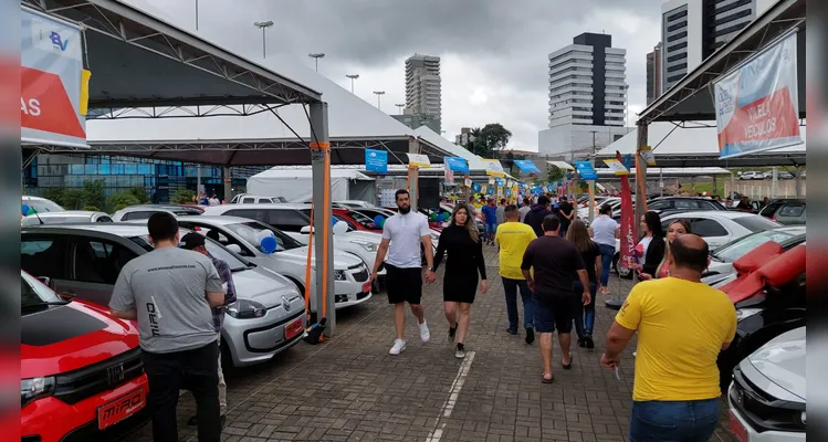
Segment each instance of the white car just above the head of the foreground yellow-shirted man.
[[662,231],[667,232],[673,220],[688,221],[690,231],[706,241],[711,251],[751,233],[782,227],[758,214],[715,210],[669,214],[661,219]]

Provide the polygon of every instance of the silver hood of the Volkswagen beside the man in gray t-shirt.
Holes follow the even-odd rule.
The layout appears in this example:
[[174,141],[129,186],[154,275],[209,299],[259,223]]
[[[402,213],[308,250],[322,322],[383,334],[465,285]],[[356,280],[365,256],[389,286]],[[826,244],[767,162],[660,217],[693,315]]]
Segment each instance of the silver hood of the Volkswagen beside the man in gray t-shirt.
[[298,296],[293,282],[262,266],[233,272],[233,285],[238,299],[255,301],[266,308],[282,305],[283,296]]

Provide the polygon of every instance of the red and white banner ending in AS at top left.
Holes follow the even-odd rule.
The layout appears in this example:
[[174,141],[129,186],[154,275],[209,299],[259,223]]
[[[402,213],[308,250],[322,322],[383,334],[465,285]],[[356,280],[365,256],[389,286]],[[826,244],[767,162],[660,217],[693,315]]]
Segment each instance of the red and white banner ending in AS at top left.
[[23,8],[20,31],[20,140],[88,147],[81,29]]

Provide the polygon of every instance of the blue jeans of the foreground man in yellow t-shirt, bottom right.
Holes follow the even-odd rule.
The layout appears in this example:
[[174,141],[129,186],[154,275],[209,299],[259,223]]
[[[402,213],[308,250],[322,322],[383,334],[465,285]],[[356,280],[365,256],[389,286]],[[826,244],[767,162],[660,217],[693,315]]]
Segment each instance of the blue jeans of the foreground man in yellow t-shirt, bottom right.
[[630,442],[708,442],[719,423],[719,398],[633,401]]

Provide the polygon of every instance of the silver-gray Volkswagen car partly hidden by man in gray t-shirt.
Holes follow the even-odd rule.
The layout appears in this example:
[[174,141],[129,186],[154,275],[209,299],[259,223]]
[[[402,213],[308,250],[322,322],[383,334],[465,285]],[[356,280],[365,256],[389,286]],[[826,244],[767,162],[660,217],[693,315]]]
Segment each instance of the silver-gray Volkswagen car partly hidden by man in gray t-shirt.
[[[189,231],[182,230],[181,236]],[[42,225],[21,231],[21,269],[49,276],[59,293],[108,305],[120,269],[153,250],[147,228],[96,223]],[[304,298],[295,285],[207,239],[208,252],[233,272],[238,301],[228,307],[222,354],[233,366],[273,358],[304,336]]]

